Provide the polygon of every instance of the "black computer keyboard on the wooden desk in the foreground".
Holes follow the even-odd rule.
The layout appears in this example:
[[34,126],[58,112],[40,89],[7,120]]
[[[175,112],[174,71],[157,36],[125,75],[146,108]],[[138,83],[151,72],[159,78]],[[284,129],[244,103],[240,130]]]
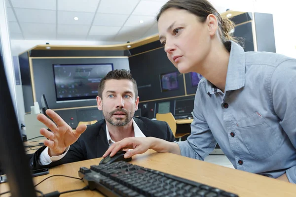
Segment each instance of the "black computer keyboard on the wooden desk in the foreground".
[[238,197],[218,188],[127,162],[80,167],[90,190],[108,197]]

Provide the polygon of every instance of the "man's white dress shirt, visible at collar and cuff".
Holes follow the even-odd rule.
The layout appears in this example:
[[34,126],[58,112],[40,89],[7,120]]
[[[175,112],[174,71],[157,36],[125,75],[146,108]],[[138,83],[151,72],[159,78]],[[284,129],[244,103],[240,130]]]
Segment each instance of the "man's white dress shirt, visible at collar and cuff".
[[[134,121],[134,119],[132,119],[132,120],[133,120],[133,127],[134,127],[135,137],[146,137],[144,135],[144,133],[140,130],[140,128],[138,127],[138,125],[136,124],[136,122]],[[111,144],[115,143],[115,141],[111,139],[110,132],[108,130],[107,124],[106,124],[106,134],[107,134],[108,144],[109,144],[109,146],[111,146]],[[56,162],[56,161],[62,159],[68,153],[69,149],[70,149],[70,146],[66,148],[64,154],[59,155],[59,156],[52,156],[52,157],[50,157],[48,155],[48,147],[46,147],[42,151],[42,153],[40,154],[39,164],[41,164],[41,165],[48,165],[48,164],[50,164],[52,162]]]

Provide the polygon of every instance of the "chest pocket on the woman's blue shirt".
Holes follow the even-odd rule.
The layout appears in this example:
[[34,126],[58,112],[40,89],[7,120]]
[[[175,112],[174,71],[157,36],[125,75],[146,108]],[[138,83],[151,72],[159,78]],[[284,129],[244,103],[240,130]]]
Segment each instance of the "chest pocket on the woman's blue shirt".
[[255,159],[270,157],[281,145],[278,133],[266,123],[259,112],[239,120],[237,126],[243,143]]

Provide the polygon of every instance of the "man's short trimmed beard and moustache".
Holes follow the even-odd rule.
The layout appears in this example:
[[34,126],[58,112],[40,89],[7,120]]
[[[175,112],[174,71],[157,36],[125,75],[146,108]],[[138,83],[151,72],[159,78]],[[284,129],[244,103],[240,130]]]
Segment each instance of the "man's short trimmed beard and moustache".
[[[112,119],[112,116],[114,113],[116,112],[123,112],[125,113],[125,118],[115,118]],[[105,120],[107,120],[107,122],[109,122],[111,125],[115,126],[115,127],[123,127],[123,126],[126,126],[133,118],[133,112],[127,112],[125,109],[123,108],[118,108],[118,109],[115,109],[111,112],[107,112],[107,111],[104,111],[103,109],[103,115],[105,117]]]

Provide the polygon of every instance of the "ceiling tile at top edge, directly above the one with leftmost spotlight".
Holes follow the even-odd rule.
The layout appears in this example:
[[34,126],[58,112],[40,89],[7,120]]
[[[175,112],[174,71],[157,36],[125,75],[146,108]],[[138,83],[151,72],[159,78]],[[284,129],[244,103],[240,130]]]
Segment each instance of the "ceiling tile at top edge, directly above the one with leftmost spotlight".
[[58,10],[95,12],[100,0],[58,0]]

